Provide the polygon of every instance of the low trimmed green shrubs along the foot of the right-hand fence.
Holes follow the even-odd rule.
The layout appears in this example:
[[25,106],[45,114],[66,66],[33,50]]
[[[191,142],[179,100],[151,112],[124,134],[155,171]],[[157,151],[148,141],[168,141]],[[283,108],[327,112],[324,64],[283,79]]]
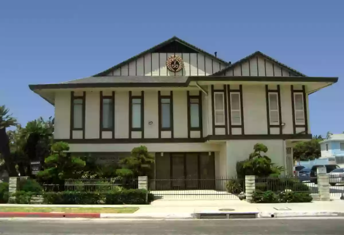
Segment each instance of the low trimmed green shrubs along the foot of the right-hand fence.
[[271,190],[262,192],[256,190],[252,194],[253,203],[291,203],[291,202],[311,202],[312,196],[309,192],[283,191],[279,194]]

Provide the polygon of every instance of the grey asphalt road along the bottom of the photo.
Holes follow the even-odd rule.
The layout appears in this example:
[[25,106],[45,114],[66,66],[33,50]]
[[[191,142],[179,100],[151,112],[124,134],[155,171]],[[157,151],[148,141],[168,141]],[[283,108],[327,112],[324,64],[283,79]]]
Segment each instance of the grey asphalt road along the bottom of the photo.
[[60,234],[121,234],[121,235],[342,235],[344,219],[243,219],[243,220],[184,220],[184,221],[2,221],[0,234],[60,235]]

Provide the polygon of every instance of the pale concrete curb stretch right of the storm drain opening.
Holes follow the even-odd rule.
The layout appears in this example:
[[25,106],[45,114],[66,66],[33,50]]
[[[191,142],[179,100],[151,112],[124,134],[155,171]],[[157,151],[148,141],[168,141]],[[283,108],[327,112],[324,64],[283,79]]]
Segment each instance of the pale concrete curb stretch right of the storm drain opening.
[[308,211],[308,212],[260,212],[258,218],[288,218],[288,217],[336,217],[344,216],[344,212]]

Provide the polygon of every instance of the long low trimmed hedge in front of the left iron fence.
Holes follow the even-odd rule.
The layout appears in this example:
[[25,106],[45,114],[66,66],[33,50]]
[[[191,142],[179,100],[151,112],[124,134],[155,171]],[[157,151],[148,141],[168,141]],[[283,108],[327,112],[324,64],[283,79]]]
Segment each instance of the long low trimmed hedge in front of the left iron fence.
[[[44,192],[43,200],[46,204],[146,204],[146,190],[123,189],[108,192]],[[153,195],[148,194],[148,202]]]

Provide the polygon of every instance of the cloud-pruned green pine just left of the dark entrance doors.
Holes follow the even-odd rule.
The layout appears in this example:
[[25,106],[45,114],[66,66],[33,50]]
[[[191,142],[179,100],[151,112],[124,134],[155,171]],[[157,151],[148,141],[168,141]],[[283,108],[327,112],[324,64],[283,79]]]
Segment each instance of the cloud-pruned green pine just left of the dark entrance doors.
[[150,176],[154,157],[148,153],[146,146],[140,146],[131,150],[131,156],[119,161],[121,169],[116,170],[120,177]]

